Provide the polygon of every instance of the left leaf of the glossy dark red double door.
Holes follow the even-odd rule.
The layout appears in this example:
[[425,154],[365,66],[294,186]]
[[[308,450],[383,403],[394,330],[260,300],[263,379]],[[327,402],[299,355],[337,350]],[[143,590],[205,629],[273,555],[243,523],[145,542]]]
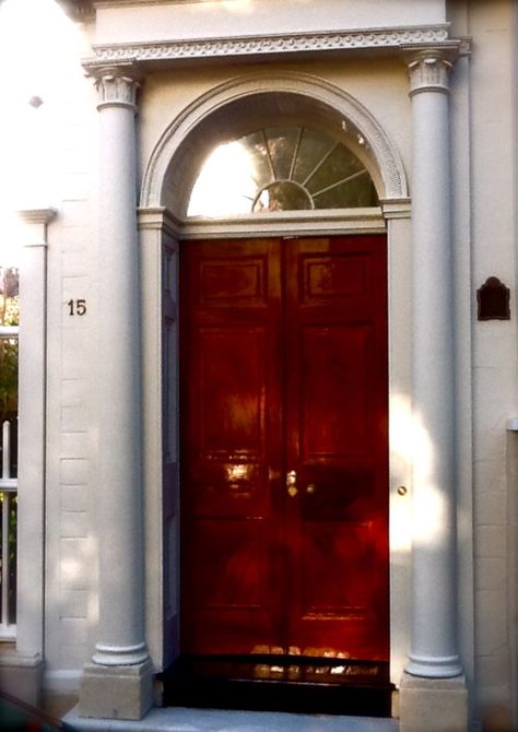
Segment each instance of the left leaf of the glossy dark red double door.
[[264,240],[187,244],[180,258],[184,651],[249,652],[278,633],[279,257]]

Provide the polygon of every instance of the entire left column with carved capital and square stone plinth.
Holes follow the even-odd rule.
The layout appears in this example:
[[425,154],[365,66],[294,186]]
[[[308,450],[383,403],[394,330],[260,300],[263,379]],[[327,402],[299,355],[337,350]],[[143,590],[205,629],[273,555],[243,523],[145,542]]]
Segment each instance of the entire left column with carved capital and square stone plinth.
[[[140,717],[151,705],[144,641],[134,70],[95,71],[99,94],[98,640],[81,713]],[[113,683],[111,683],[113,682]],[[130,692],[130,687],[132,690]]]

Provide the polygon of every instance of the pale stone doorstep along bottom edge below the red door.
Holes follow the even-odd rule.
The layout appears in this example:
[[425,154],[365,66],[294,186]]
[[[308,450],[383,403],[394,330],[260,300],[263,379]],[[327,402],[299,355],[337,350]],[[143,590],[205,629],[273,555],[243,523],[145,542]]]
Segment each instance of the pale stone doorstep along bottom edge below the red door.
[[143,719],[86,719],[78,709],[64,716],[70,732],[398,732],[396,719],[294,715],[274,711],[154,708]]

